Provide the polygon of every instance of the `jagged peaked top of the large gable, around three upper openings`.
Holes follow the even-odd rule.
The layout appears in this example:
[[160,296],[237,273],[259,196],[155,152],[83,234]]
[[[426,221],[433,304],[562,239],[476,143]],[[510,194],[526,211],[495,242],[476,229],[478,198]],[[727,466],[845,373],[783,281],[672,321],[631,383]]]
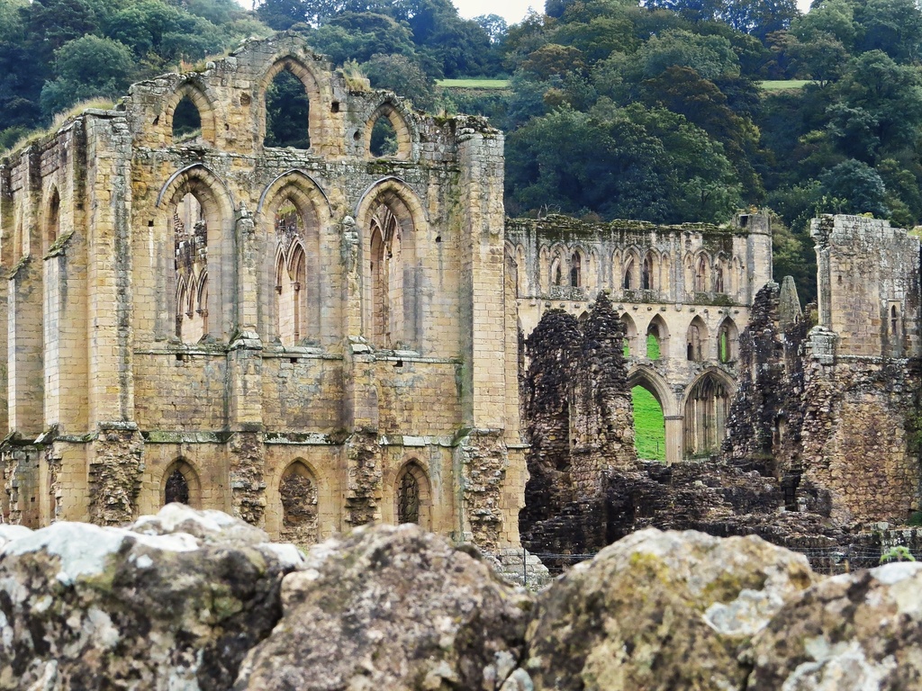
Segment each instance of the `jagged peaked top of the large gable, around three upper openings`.
[[[457,145],[473,135],[502,140],[485,118],[459,115],[433,118],[393,92],[368,87],[347,77],[322,55],[314,53],[295,32],[264,40],[244,41],[228,56],[207,62],[202,70],[169,73],[138,82],[112,111],[88,110],[71,118],[55,133],[10,154],[0,167],[12,168],[33,146],[43,148],[75,120],[124,117],[135,148],[208,149],[263,158],[287,157],[289,148],[264,146],[266,89],[288,70],[304,84],[310,99],[308,133],[311,146],[301,158],[369,160],[388,158],[407,165],[455,161]],[[174,141],[172,120],[183,98],[192,100],[201,116],[201,133],[193,141]],[[380,118],[394,126],[397,152],[375,157],[372,128]]]

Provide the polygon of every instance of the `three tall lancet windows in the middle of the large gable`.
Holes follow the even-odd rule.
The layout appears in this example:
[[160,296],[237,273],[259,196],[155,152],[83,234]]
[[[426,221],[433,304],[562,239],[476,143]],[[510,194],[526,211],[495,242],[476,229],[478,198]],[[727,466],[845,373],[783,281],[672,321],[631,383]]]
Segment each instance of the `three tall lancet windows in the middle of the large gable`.
[[[231,312],[235,286],[221,268],[233,251],[230,194],[204,166],[174,176],[160,193],[173,238],[173,271],[158,279],[171,290],[175,335],[195,344],[228,333],[207,315]],[[325,194],[298,170],[279,176],[263,193],[254,217],[262,259],[260,313],[268,342],[317,345],[337,339],[337,320],[324,308],[342,299],[338,228]],[[363,194],[356,210],[360,236],[362,330],[381,348],[419,348],[423,320],[417,244],[428,230],[425,210],[406,182],[386,178]],[[156,240],[152,240],[156,244]],[[269,298],[271,296],[271,298]],[[331,310],[327,310],[329,314]]]

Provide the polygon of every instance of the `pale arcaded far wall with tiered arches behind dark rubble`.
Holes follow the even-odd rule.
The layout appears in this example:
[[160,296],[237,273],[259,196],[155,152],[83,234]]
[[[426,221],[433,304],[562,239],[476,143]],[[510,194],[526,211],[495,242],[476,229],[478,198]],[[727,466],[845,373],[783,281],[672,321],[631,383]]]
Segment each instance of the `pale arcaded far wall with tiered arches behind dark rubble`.
[[526,338],[551,309],[585,320],[608,291],[624,324],[630,386],[652,392],[666,417],[667,463],[719,450],[739,332],[772,277],[767,216],[727,227],[515,219],[506,224],[506,253]]

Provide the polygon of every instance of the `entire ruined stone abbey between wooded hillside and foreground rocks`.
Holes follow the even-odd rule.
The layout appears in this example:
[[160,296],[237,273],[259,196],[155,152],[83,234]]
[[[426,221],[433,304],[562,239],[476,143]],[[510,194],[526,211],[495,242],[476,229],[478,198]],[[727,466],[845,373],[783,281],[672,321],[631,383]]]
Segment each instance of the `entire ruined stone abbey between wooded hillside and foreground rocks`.
[[[266,145],[279,75],[307,148]],[[300,544],[418,522],[579,552],[646,525],[836,544],[919,509],[918,240],[815,220],[803,314],[767,216],[507,219],[502,146],[280,34],[0,161],[3,521],[179,500]],[[636,386],[666,463],[637,459]]]

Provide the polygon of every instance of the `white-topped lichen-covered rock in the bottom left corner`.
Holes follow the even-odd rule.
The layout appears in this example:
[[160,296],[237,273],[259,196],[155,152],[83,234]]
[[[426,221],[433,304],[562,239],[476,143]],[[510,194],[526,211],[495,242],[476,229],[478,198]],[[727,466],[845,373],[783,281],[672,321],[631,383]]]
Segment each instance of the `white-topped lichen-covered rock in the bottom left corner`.
[[281,615],[291,545],[171,505],[0,533],[0,689],[226,691]]

